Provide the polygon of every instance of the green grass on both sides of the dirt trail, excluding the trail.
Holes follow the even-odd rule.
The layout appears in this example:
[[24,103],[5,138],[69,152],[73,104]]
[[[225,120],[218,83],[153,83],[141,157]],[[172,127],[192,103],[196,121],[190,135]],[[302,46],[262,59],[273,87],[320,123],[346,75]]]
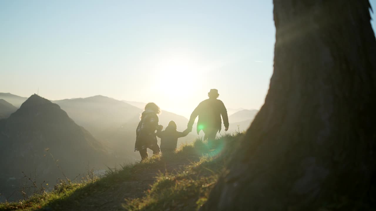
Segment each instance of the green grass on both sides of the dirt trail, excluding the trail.
[[[192,162],[173,172],[159,173],[152,187],[145,191],[144,197],[125,200],[123,207],[127,210],[194,210],[205,203],[228,155],[242,135],[243,133],[225,134],[213,143],[197,139],[193,143],[181,145],[173,154],[153,156],[139,164],[109,170],[102,178],[82,183],[61,181],[53,191],[35,194],[19,202],[0,203],[0,210],[70,210],[78,205],[93,206],[94,201],[88,199],[95,194],[111,190],[138,172],[158,171],[170,160],[177,163],[180,160]],[[86,204],[82,204],[83,199]]]

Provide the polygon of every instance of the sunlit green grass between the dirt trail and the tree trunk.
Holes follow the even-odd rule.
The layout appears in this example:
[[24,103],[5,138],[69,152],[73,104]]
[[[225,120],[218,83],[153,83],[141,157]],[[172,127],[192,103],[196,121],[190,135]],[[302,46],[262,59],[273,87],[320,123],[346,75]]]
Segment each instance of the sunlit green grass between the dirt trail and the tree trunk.
[[198,209],[208,199],[241,135],[226,134],[212,144],[196,140],[181,146],[176,156],[193,152],[201,154],[201,160],[185,166],[183,171],[160,174],[143,198],[127,200],[123,207],[129,211]]

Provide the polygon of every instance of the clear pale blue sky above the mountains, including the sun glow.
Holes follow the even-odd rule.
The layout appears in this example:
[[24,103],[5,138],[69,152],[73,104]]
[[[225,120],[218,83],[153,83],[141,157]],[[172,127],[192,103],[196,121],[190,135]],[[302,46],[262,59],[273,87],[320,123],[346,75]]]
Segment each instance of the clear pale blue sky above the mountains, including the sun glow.
[[271,0],[0,0],[0,92],[259,109],[274,34]]

